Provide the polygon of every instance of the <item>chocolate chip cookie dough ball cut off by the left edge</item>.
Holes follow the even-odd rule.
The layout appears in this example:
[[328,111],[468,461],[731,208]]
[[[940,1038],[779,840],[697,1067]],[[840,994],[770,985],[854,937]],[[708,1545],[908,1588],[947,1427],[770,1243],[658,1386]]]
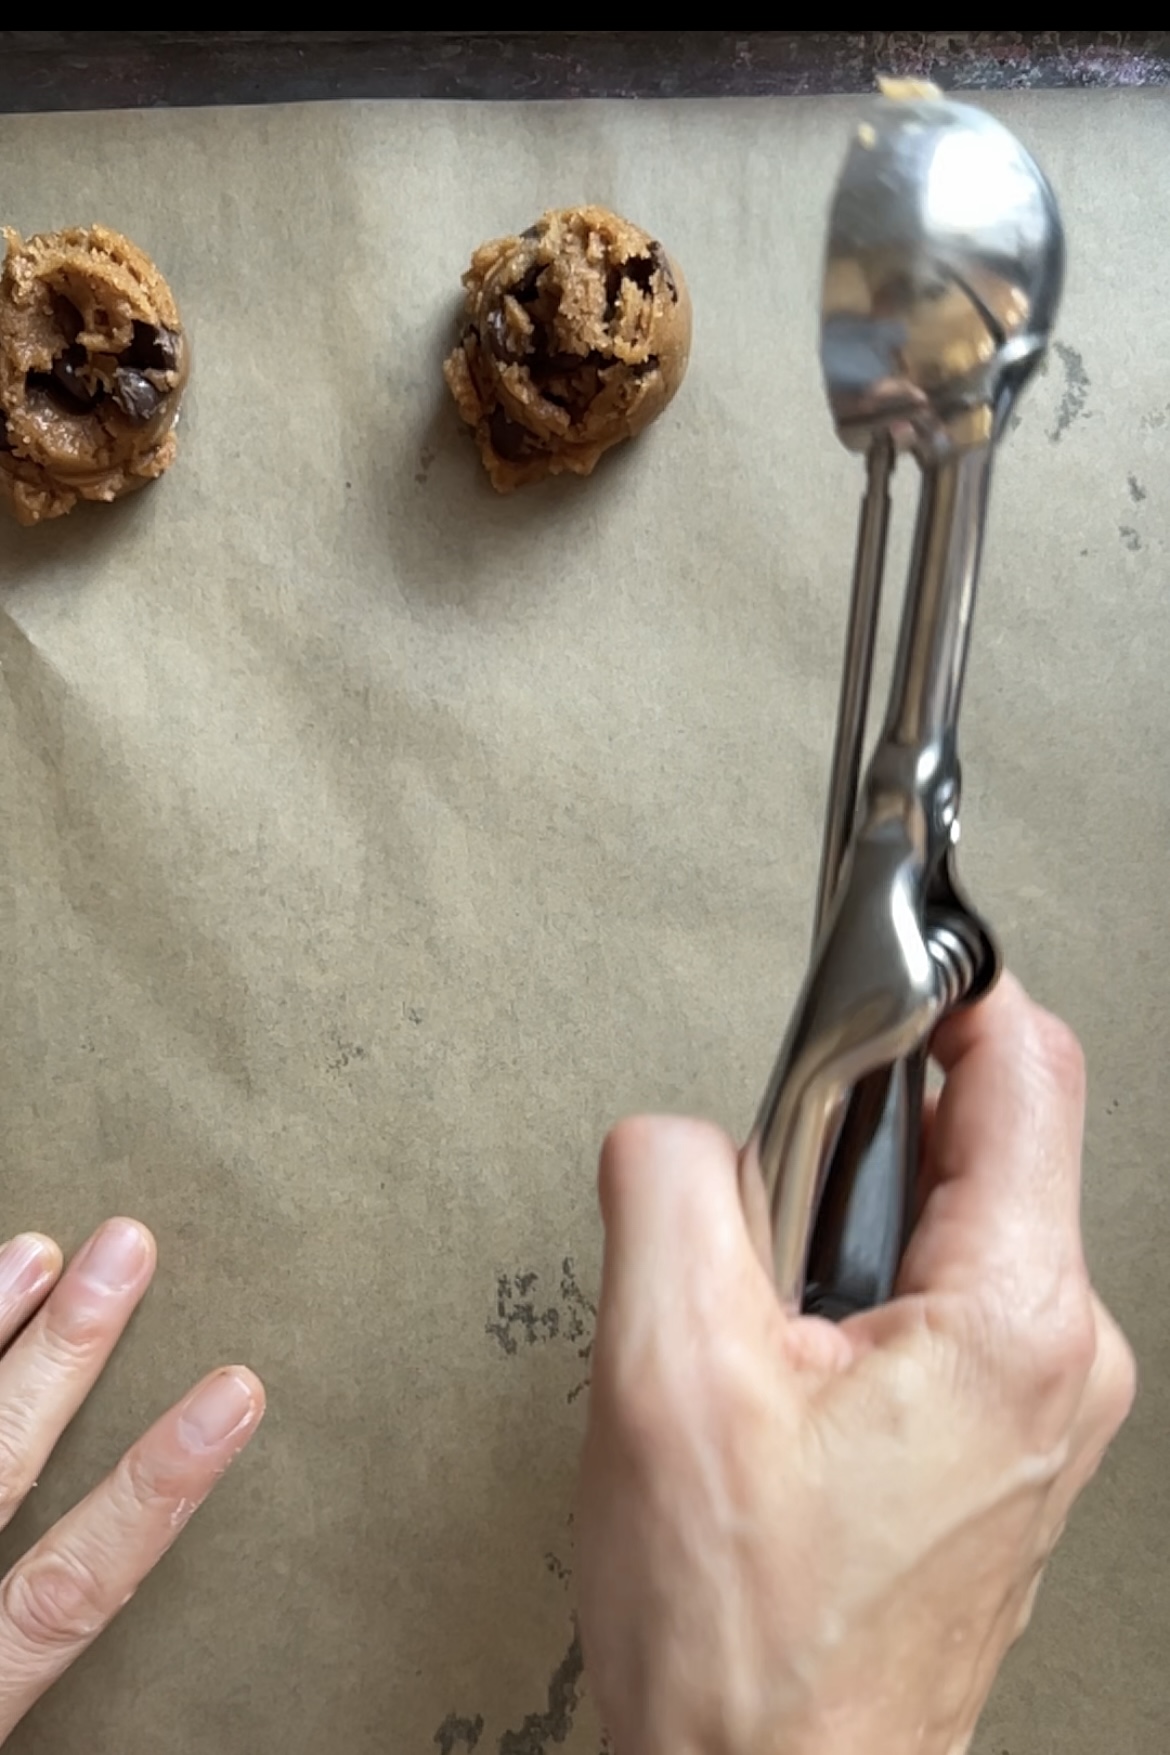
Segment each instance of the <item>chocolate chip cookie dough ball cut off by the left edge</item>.
[[189,356],[167,281],[118,232],[4,237],[0,498],[35,525],[170,469]]

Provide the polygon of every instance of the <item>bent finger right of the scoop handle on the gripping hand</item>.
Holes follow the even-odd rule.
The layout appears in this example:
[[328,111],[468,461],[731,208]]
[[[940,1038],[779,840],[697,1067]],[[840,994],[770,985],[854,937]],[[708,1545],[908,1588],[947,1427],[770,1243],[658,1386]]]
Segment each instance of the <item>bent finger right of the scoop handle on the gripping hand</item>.
[[942,1025],[931,1053],[945,1083],[930,1130],[930,1193],[898,1292],[993,1281],[1033,1307],[1084,1267],[1081,1044],[1003,976]]

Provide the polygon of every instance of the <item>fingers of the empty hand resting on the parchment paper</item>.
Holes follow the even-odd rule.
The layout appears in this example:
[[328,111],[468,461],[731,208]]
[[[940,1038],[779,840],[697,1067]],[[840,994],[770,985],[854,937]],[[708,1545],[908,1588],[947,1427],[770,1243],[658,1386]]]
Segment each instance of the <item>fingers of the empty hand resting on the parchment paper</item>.
[[[47,1237],[0,1250],[0,1527],[96,1383],[154,1262],[154,1239],[132,1220],[103,1225],[65,1272]],[[0,1581],[0,1743],[133,1595],[261,1415],[249,1371],[203,1378]]]

